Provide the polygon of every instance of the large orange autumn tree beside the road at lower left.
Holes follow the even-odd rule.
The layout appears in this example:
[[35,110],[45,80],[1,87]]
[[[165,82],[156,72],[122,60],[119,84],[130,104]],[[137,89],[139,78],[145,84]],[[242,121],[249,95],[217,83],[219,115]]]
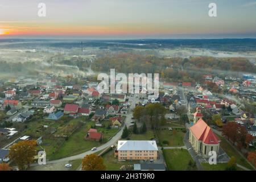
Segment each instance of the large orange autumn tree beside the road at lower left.
[[9,158],[18,166],[19,170],[29,168],[36,155],[36,140],[20,141],[10,147]]

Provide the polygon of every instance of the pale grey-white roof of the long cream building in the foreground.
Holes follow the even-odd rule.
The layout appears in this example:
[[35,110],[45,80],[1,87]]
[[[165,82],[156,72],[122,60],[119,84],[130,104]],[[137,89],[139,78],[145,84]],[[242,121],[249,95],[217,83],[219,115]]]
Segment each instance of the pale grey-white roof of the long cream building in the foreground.
[[158,151],[154,140],[119,140],[117,150],[152,150]]

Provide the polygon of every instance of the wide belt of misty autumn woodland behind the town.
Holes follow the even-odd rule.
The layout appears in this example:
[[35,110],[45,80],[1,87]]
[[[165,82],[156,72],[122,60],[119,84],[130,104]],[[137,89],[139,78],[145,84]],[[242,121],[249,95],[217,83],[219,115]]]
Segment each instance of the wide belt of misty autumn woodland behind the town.
[[160,73],[162,78],[172,81],[200,80],[203,74],[225,77],[238,73],[255,73],[256,67],[242,57],[189,57],[189,59],[156,57],[122,53],[113,57],[101,57],[92,64],[94,71],[109,72],[115,68],[122,73]]

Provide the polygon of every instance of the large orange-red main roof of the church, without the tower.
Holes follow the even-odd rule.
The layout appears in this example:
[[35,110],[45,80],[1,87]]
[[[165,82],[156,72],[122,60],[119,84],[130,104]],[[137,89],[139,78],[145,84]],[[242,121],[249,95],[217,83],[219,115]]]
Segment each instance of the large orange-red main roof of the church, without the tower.
[[199,119],[199,121],[197,121],[195,125],[191,126],[189,130],[193,133],[193,135],[195,135],[197,140],[201,140],[205,144],[219,143],[219,139],[203,119]]

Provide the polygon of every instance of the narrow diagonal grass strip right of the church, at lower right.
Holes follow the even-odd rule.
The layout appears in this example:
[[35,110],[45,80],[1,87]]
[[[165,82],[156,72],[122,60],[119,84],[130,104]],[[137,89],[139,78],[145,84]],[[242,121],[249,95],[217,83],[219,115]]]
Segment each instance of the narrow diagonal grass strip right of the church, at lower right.
[[220,135],[218,135],[218,138],[221,139],[221,142],[220,142],[221,148],[226,152],[226,154],[228,154],[230,158],[234,156],[237,160],[237,164],[240,164],[241,166],[244,166],[249,169],[253,169],[250,166],[250,164],[247,163],[247,161],[243,159],[242,156],[236,150],[234,150],[234,148],[226,141],[224,137],[221,137]]

